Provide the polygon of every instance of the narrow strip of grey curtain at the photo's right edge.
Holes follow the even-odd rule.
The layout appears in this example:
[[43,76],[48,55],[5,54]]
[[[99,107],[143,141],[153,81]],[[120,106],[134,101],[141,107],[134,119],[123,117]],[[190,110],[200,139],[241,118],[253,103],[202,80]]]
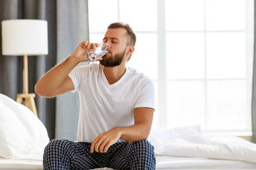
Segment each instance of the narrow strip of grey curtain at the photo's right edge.
[[[256,10],[256,0],[255,0]],[[256,12],[255,12],[256,13]],[[255,35],[254,35],[254,59],[252,78],[252,142],[256,143],[256,14],[255,14]]]

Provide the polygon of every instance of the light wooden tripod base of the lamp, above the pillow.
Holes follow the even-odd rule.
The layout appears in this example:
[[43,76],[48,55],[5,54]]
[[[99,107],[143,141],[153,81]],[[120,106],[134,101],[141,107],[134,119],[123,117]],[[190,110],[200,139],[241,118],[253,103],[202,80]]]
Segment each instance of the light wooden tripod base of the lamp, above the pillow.
[[17,94],[16,102],[21,104],[24,103],[24,105],[27,106],[36,115],[36,117],[38,117],[34,99],[35,97],[36,94]]

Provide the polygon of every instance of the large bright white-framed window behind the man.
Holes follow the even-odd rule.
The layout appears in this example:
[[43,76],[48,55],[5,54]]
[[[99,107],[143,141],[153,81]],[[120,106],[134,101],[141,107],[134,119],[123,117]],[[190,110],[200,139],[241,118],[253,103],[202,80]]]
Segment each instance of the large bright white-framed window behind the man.
[[154,129],[201,125],[204,132],[251,135],[254,1],[88,4],[92,42],[102,41],[107,26],[117,21],[137,33],[127,65],[154,82]]

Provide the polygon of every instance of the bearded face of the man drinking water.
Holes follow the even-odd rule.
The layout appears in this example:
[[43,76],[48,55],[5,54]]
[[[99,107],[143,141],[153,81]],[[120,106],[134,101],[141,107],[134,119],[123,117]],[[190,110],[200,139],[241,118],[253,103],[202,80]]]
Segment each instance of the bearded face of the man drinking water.
[[105,67],[115,67],[124,61],[127,52],[127,31],[124,28],[109,29],[105,33],[103,42],[110,45],[110,52],[100,60]]

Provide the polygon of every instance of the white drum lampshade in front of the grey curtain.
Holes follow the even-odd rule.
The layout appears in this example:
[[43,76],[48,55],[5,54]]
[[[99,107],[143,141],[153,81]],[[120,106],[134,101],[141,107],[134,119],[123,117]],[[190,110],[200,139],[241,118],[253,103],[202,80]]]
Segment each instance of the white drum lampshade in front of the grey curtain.
[[48,26],[43,20],[1,22],[3,55],[48,55]]

